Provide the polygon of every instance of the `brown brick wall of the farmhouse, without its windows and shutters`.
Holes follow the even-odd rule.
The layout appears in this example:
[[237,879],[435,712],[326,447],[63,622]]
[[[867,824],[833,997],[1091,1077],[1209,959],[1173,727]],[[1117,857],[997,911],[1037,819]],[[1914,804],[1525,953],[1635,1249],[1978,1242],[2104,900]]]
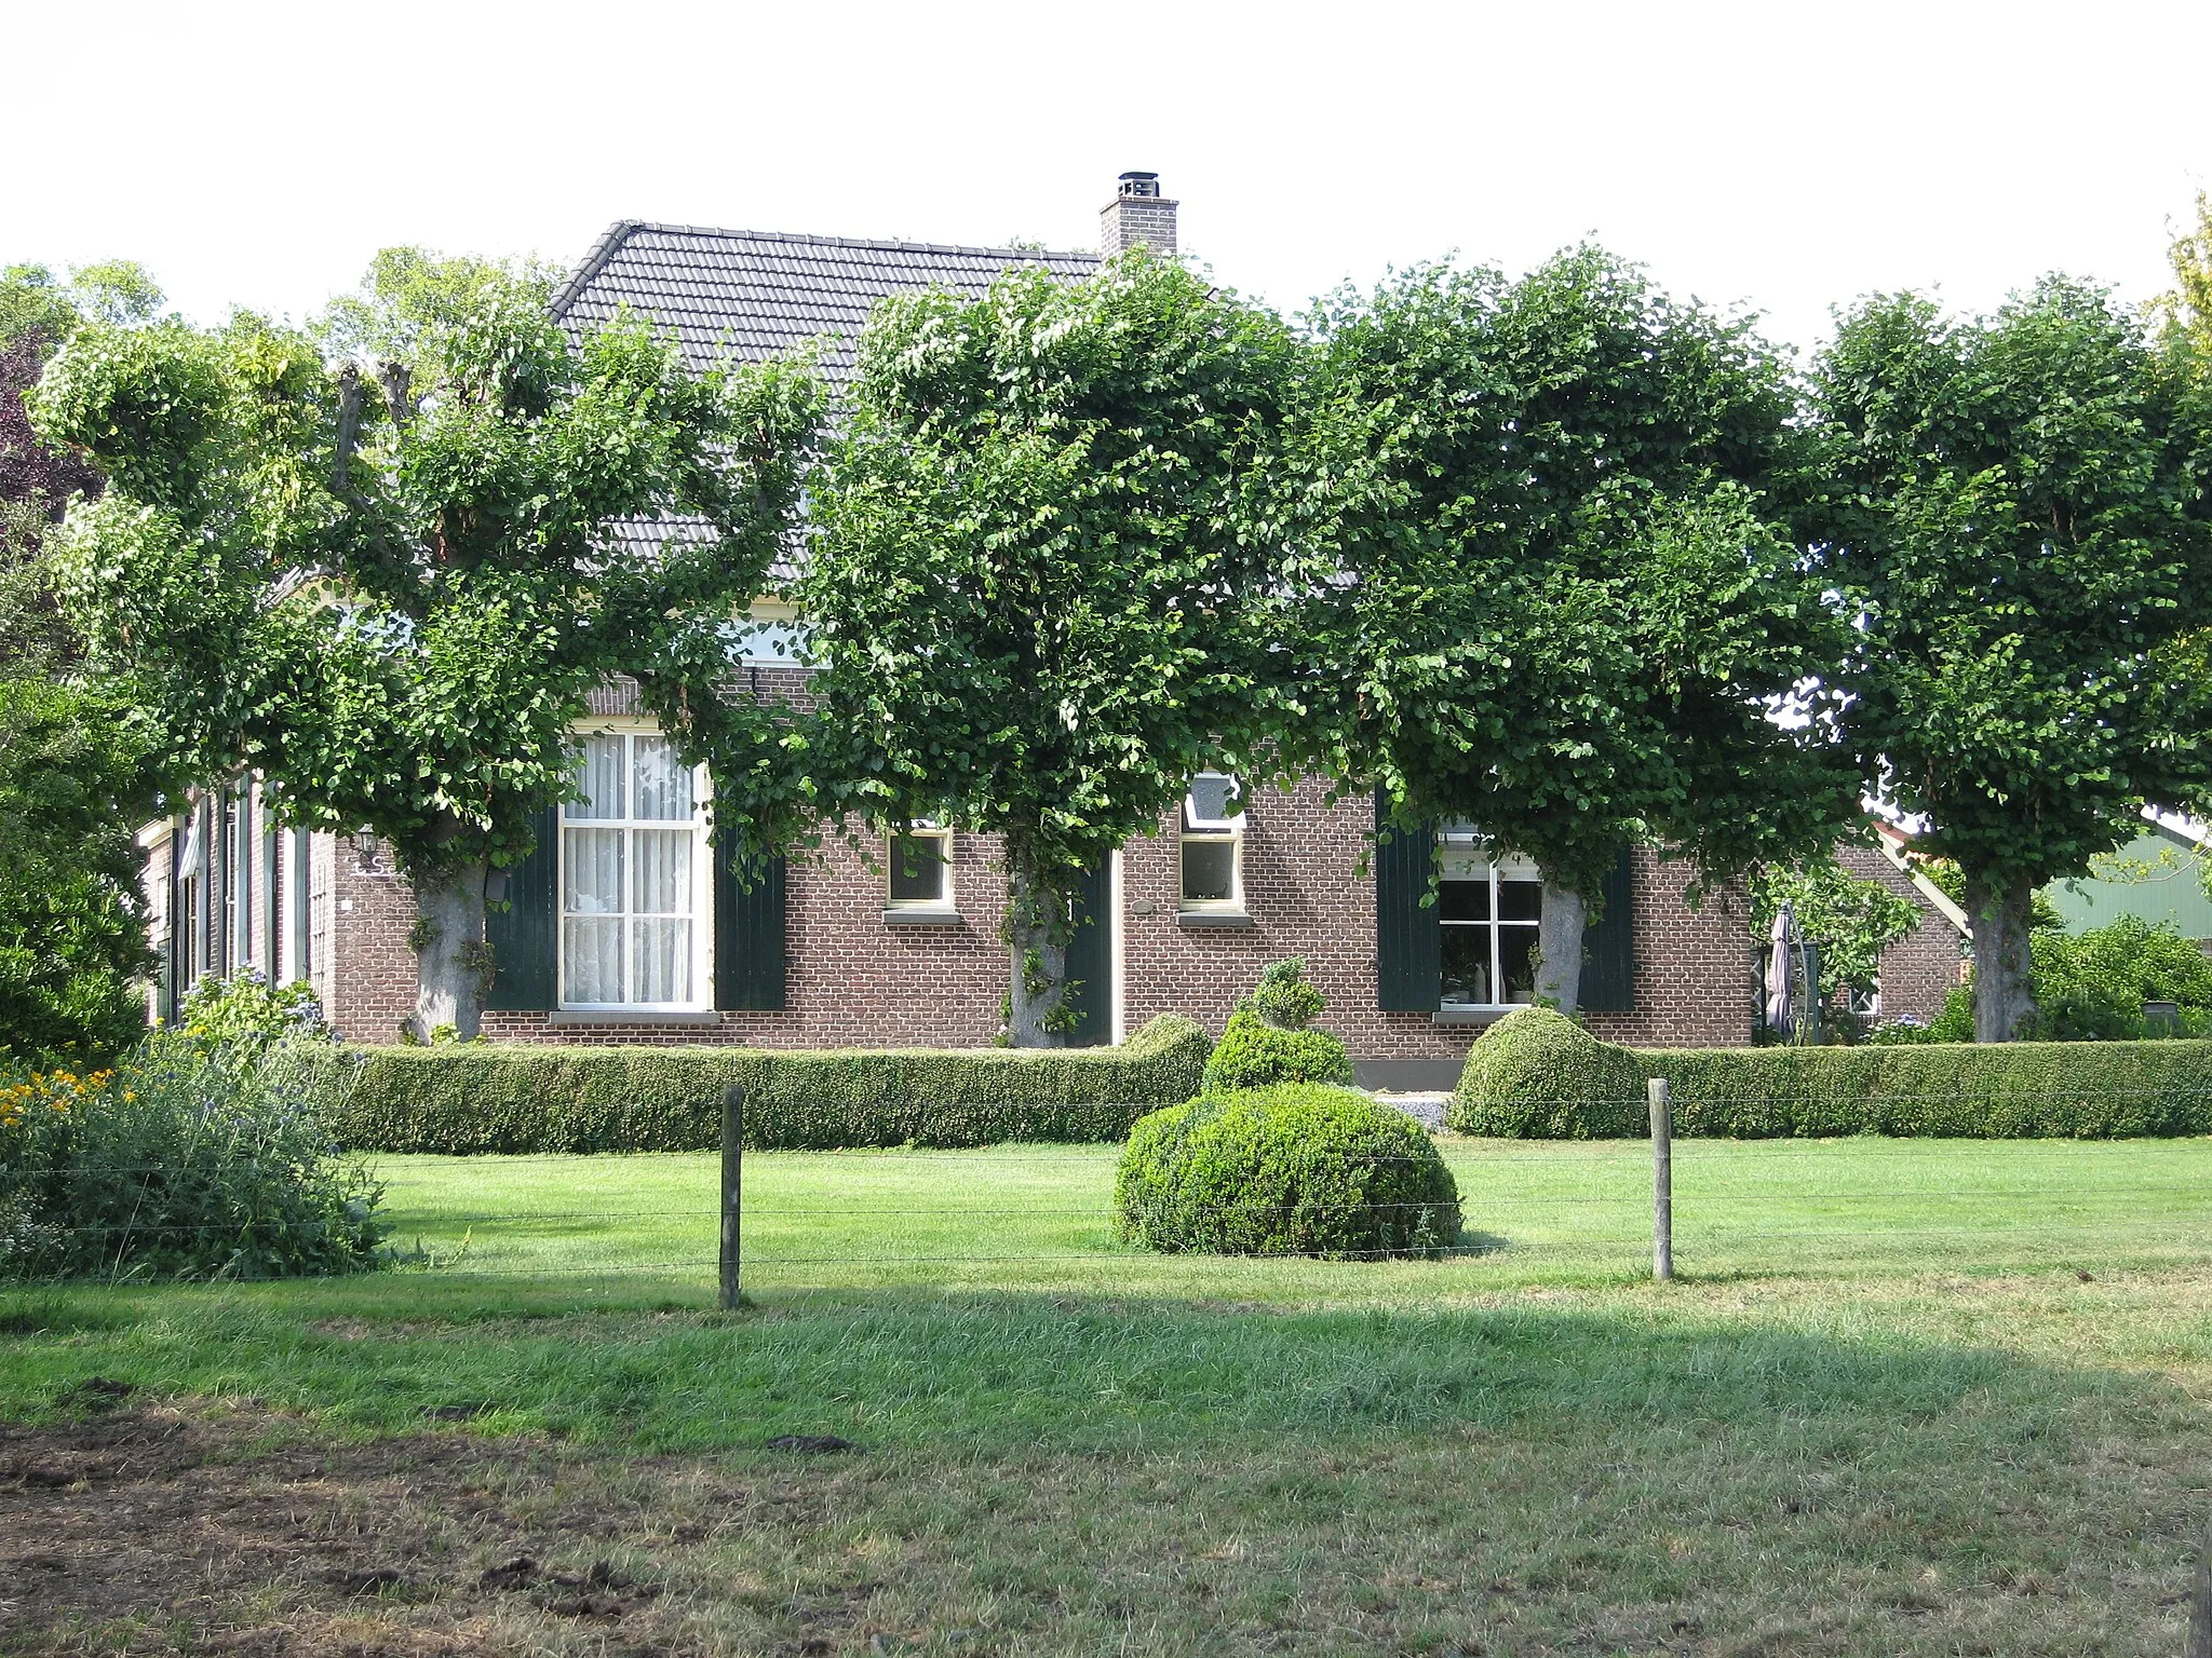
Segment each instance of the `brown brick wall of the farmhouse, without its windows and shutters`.
[[[615,710],[608,710],[615,712]],[[1427,1012],[1376,1008],[1374,880],[1360,875],[1374,807],[1327,802],[1318,780],[1261,791],[1245,811],[1243,884],[1252,924],[1197,928],[1179,915],[1177,820],[1121,851],[1117,924],[1121,1028],[1181,1012],[1221,1030],[1259,970],[1305,955],[1329,999],[1323,1026],[1360,1059],[1455,1059],[1478,1035]],[[389,856],[363,869],[352,840],[319,838],[330,869],[336,973],[325,1006],[347,1037],[389,1041],[414,1010],[407,928],[414,904]],[[319,858],[319,873],[323,858]],[[1750,940],[1743,895],[1683,902],[1688,871],[1639,853],[1635,1010],[1590,1015],[1613,1041],[1741,1043],[1750,1037]],[[792,858],[787,873],[787,1008],[710,1021],[608,1019],[571,1024],[540,1012],[489,1012],[502,1041],[741,1041],[763,1048],[982,1046],[1000,1030],[1006,951],[998,926],[1004,878],[991,836],[956,836],[951,924],[898,924],[883,913],[885,875],[843,842]],[[321,893],[319,893],[321,900]],[[319,915],[323,906],[319,902]],[[330,959],[319,953],[319,966]],[[321,975],[319,975],[321,977]]]

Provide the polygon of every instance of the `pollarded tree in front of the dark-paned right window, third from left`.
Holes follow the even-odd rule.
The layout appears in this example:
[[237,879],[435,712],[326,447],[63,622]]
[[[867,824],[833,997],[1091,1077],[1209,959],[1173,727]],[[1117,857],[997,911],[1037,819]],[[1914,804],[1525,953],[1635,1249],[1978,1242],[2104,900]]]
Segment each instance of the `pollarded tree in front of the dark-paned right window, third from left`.
[[1413,270],[1316,327],[1301,632],[1329,765],[1537,862],[1533,990],[1573,1010],[1628,844],[1728,878],[1856,816],[1787,374],[1588,248],[1511,285]]

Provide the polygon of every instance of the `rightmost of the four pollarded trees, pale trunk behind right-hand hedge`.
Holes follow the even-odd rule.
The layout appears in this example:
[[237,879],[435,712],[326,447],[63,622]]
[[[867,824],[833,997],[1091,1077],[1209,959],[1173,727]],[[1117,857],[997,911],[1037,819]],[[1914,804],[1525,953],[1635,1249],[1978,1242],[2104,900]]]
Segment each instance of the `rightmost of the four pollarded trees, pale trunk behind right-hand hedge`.
[[1966,878],[1975,1039],[2035,1010],[2035,889],[2212,785],[2203,387],[2046,279],[1991,318],[1874,298],[1818,365],[1854,743]]

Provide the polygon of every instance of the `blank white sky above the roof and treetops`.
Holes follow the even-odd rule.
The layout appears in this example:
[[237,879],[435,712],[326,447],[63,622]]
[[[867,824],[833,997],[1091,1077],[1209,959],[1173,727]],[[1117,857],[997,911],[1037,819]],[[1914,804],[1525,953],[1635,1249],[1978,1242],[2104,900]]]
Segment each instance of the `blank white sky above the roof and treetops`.
[[201,321],[624,217],[1088,248],[1150,168],[1285,307],[1595,234],[1805,345],[1869,290],[2148,296],[2212,177],[2205,0],[11,0],[0,40],[0,261],[135,256]]

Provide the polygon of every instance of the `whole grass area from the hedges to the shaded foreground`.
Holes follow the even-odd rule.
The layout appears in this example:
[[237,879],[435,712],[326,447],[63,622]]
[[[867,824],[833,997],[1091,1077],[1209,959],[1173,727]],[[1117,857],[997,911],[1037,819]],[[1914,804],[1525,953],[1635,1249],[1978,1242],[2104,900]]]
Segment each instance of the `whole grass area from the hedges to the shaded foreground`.
[[1347,1265],[759,1154],[737,1315],[712,1158],[387,1158],[420,1267],[0,1298],[0,1649],[2179,1651],[2212,1141],[1681,1143],[1670,1287],[1641,1147],[1447,1158]]

